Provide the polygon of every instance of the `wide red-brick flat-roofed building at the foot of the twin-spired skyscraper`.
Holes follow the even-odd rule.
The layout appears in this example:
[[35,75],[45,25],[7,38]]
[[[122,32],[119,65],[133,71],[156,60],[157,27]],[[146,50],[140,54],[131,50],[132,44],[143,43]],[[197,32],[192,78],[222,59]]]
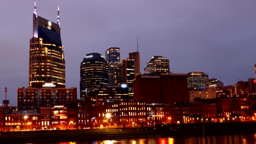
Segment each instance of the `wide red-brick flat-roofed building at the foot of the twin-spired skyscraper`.
[[18,110],[34,111],[40,107],[77,104],[77,88],[56,88],[45,85],[43,88],[18,88]]

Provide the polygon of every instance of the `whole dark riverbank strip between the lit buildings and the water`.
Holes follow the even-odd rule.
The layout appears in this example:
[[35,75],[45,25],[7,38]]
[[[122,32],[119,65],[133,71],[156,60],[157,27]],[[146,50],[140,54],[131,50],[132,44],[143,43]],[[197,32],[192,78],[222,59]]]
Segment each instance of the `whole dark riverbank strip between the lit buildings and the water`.
[[1,143],[50,143],[124,139],[157,139],[176,136],[217,136],[255,134],[256,122],[158,124],[155,127],[9,131],[0,135]]

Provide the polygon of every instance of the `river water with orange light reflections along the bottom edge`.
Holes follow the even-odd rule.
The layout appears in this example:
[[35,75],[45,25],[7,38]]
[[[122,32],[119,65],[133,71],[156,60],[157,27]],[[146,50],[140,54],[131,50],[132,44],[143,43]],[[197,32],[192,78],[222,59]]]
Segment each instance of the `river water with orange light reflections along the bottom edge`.
[[165,144],[165,143],[186,143],[186,144],[256,144],[254,135],[225,135],[225,136],[202,136],[202,137],[164,137],[156,139],[130,139],[130,140],[106,140],[106,141],[84,141],[84,142],[59,142],[49,144]]

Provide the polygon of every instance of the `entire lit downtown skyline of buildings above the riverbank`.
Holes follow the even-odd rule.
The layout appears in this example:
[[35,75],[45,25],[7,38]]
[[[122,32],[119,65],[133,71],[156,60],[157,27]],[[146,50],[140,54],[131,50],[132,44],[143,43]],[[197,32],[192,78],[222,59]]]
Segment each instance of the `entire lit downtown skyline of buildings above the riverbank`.
[[79,98],[77,88],[65,87],[59,12],[54,23],[34,5],[29,84],[18,88],[17,107],[7,100],[0,107],[1,131],[256,120],[255,79],[224,86],[201,71],[171,73],[163,56],[153,56],[142,74],[138,50],[120,59],[119,47],[81,58]]

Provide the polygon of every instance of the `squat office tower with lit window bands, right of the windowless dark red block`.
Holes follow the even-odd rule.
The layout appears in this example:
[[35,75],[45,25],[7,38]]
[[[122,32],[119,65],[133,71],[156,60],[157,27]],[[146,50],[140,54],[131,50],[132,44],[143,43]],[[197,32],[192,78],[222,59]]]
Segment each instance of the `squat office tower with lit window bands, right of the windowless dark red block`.
[[209,81],[208,74],[193,71],[187,74],[188,89],[202,89],[205,88]]

